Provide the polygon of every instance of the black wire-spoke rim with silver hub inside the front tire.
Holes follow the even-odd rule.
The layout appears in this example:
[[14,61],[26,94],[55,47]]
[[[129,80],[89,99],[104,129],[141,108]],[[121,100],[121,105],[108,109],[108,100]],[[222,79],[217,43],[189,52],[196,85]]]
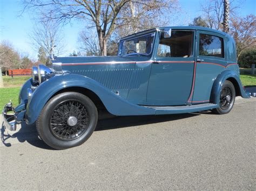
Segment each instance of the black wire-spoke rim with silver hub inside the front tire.
[[83,135],[89,123],[88,112],[78,101],[64,101],[52,112],[50,130],[58,139],[74,140]]

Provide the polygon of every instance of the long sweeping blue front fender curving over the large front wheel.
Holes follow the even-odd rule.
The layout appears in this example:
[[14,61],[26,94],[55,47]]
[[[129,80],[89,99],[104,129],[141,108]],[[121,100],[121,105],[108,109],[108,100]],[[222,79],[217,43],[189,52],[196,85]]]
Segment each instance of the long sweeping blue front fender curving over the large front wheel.
[[34,123],[49,99],[58,91],[69,87],[82,87],[93,91],[103,102],[107,111],[113,115],[155,114],[154,109],[140,107],[139,105],[127,102],[124,98],[114,94],[110,89],[89,77],[66,74],[53,76],[36,88],[26,107],[26,123]]

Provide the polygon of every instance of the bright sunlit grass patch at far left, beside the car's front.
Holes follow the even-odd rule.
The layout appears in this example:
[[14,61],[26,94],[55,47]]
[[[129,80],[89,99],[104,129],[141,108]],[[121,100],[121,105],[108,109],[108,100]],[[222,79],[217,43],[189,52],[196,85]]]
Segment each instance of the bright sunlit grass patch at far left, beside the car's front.
[[0,88],[0,109],[4,107],[10,100],[14,107],[18,105],[19,90],[21,87],[15,88]]

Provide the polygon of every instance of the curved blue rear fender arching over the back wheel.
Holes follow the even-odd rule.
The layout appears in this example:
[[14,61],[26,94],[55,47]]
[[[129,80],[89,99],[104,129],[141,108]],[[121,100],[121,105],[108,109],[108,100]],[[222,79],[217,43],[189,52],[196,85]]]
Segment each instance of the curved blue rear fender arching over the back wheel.
[[221,87],[227,79],[232,79],[232,82],[235,83],[234,86],[236,89],[238,88],[241,97],[250,98],[250,95],[246,94],[244,88],[242,87],[239,75],[232,70],[224,70],[214,80],[210,98],[211,103],[219,104]]

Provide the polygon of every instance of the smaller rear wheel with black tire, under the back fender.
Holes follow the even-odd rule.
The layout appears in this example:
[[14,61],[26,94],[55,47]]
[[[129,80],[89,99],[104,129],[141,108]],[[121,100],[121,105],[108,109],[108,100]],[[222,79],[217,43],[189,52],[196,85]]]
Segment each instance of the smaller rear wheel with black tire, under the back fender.
[[219,108],[213,109],[215,114],[227,114],[235,102],[235,88],[231,81],[226,80],[220,90]]

